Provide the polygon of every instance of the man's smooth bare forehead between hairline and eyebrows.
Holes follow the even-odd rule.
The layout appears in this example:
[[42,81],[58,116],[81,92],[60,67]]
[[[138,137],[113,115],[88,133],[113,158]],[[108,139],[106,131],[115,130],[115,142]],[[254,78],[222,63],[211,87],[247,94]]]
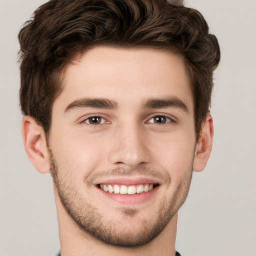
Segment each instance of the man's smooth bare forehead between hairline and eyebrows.
[[137,104],[146,98],[169,96],[192,104],[183,57],[167,50],[96,46],[67,64],[62,86],[55,101],[66,105],[82,97]]

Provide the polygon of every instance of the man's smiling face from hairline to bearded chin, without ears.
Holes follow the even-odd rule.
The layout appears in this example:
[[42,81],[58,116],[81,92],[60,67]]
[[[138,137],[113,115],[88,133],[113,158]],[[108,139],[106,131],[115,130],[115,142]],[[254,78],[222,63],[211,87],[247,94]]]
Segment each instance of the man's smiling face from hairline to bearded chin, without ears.
[[156,237],[184,202],[196,143],[180,55],[98,46],[63,74],[48,137],[62,207],[118,246]]

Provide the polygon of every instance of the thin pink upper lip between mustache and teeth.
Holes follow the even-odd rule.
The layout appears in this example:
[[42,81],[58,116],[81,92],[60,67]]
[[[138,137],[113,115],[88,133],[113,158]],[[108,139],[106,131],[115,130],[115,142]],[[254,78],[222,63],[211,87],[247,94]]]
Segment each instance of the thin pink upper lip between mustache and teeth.
[[119,185],[136,185],[136,184],[160,184],[159,180],[150,177],[138,176],[118,176],[100,178],[94,184],[119,184]]

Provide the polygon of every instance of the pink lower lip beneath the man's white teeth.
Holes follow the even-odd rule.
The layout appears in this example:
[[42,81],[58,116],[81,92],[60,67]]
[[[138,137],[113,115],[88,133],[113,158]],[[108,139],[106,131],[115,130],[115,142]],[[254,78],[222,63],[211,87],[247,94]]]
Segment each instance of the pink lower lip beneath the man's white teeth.
[[137,194],[115,194],[105,192],[104,190],[98,188],[99,192],[101,192],[104,196],[122,204],[137,204],[142,203],[149,200],[155,192],[158,190],[159,186],[154,187],[152,190]]

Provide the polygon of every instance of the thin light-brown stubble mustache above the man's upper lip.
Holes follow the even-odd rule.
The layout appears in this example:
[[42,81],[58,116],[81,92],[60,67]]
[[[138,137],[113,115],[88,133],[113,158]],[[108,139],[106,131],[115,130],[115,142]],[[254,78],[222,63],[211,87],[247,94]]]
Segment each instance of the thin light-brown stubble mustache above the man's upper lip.
[[113,168],[104,171],[99,171],[96,173],[91,173],[87,178],[87,183],[91,184],[98,177],[107,177],[107,176],[146,176],[154,177],[163,181],[163,183],[170,183],[170,176],[165,171],[155,170],[146,167],[136,167],[136,168]]

